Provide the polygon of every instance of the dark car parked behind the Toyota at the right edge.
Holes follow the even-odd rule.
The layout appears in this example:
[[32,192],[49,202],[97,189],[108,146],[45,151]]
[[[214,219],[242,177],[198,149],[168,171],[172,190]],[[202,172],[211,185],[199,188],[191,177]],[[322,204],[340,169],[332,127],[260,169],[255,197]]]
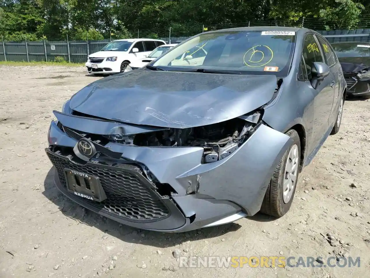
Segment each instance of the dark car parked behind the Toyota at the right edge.
[[332,43],[347,82],[347,96],[370,99],[370,43]]

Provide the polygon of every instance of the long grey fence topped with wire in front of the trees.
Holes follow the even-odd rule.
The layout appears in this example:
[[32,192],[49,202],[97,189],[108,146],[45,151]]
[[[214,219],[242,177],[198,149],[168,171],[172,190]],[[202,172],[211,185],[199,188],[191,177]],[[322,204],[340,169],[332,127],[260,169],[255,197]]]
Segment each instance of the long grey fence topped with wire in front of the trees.
[[[114,32],[84,32],[83,40],[75,40],[73,31],[63,35],[43,37],[39,40],[7,41],[1,36],[0,61],[67,61],[70,63],[84,63],[89,54],[98,52],[107,43],[116,39],[152,38],[161,39],[166,43],[179,43],[201,32],[253,26],[285,26],[305,27],[321,33],[332,42],[359,41],[370,42],[370,16],[363,16],[357,24],[357,29],[342,30],[336,23],[328,23],[325,19],[299,19],[296,21],[269,20],[248,21],[242,23],[213,24],[182,26],[173,24],[168,28],[138,29],[125,32],[125,35]],[[327,30],[332,29],[332,30]]]

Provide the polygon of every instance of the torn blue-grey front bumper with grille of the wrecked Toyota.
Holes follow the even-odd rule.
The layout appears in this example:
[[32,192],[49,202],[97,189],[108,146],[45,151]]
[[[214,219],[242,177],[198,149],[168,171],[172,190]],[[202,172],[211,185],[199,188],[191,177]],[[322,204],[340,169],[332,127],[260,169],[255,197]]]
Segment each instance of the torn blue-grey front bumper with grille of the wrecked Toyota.
[[[228,153],[222,157],[219,152],[215,161],[206,161],[213,150],[207,153],[207,147],[202,144],[138,146],[129,140],[119,141],[117,134],[115,140],[107,137],[107,130],[123,128],[126,135],[145,135],[155,127],[57,112],[55,115],[58,120],[50,125],[50,146],[46,152],[56,169],[57,188],[74,202],[100,215],[154,231],[184,232],[256,214],[273,169],[291,140],[259,121],[239,145],[230,148],[235,140],[226,146],[219,141]],[[253,115],[244,120],[240,118],[246,123],[247,120],[253,122]],[[104,136],[98,140],[91,138],[90,133]],[[88,161],[76,155],[79,136],[88,137],[96,147],[96,155],[85,159]],[[152,142],[148,138],[150,136],[145,137],[147,145]],[[106,198],[98,202],[71,191],[66,171],[86,174],[87,178],[97,177]]]

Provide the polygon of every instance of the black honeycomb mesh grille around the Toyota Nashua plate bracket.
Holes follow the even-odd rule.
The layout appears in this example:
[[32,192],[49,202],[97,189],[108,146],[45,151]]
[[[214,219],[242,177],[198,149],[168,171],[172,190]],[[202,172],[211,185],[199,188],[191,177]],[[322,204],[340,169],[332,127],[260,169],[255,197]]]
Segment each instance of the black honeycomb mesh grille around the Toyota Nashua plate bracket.
[[105,168],[92,163],[80,165],[48,151],[47,155],[58,171],[60,182],[65,187],[65,168],[94,175],[100,179],[107,199],[103,202],[83,199],[84,202],[128,221],[153,221],[169,216],[169,211],[159,199],[160,197],[141,180],[145,178],[141,176],[140,168],[137,166],[122,165],[131,169],[121,169]]

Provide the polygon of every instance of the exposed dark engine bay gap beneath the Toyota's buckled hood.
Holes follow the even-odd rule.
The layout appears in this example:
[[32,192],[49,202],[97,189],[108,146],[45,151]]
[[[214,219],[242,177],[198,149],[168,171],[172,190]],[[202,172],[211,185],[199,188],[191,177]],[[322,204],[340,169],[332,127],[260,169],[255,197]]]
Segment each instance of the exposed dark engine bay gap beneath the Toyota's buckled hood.
[[[75,114],[75,113],[74,113]],[[90,115],[78,115],[88,116]],[[121,129],[112,129],[110,135],[97,135],[81,133],[78,130],[60,128],[71,137],[79,139],[80,136],[91,140],[101,146],[109,142],[122,145],[148,146],[148,147],[181,147],[199,146],[204,148],[202,163],[221,160],[235,152],[239,146],[252,134],[260,119],[260,112],[255,111],[225,122],[193,128],[159,128],[152,132],[126,135]],[[76,137],[75,135],[78,136]]]

